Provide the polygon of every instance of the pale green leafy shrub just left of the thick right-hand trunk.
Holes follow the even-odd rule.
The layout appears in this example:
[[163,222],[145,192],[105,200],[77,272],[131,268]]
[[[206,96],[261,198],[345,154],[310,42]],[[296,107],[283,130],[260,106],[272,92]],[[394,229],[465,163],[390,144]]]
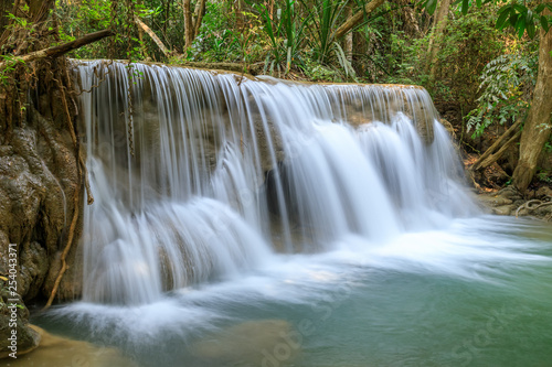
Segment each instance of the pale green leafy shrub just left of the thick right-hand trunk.
[[493,122],[513,123],[524,119],[537,78],[537,53],[501,55],[485,66],[478,107],[467,116],[473,138],[482,134]]

